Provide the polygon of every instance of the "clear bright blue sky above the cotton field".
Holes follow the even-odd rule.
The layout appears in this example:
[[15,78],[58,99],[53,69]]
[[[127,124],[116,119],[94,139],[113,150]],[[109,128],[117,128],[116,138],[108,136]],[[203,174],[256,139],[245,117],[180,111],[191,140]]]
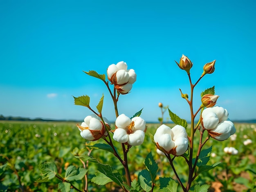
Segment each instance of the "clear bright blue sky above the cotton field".
[[81,120],[91,112],[72,96],[88,95],[94,107],[104,94],[103,116],[114,121],[106,86],[83,71],[106,74],[125,61],[137,81],[120,96],[120,114],[144,108],[141,117],[157,121],[162,102],[189,120],[179,92],[190,93],[189,81],[174,62],[184,54],[194,83],[216,60],[195,87],[195,110],[215,85],[231,120],[255,119],[255,7],[253,0],[0,1],[0,114]]

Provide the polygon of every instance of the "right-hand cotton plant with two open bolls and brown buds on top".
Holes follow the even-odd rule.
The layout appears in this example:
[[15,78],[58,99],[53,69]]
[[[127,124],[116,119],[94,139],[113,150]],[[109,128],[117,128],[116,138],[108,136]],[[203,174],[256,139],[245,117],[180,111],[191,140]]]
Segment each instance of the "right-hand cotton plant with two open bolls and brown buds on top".
[[[215,94],[214,86],[204,90],[201,93],[201,105],[198,106],[196,111],[193,109],[194,88],[205,75],[212,74],[215,71],[215,63],[216,60],[206,63],[203,66],[202,75],[198,78],[196,83],[192,83],[190,71],[193,63],[188,57],[182,55],[180,62],[176,62],[176,64],[180,69],[186,71],[186,74],[189,78],[190,96],[189,94],[183,93],[181,89],[180,93],[181,97],[186,100],[190,108],[190,131],[187,130],[188,123],[186,120],[180,118],[168,108],[170,118],[176,125],[171,128],[163,124],[159,126],[155,134],[151,136],[151,139],[156,145],[157,150],[164,153],[164,155],[169,160],[177,181],[184,192],[191,190],[192,182],[195,180],[198,174],[204,171],[209,171],[219,164],[215,163],[213,165],[206,165],[210,159],[212,147],[202,150],[204,144],[210,138],[217,141],[224,141],[236,132],[234,123],[232,123],[228,118],[229,113],[227,109],[216,106],[219,96]],[[199,116],[199,121],[196,123],[195,118],[197,116]],[[190,134],[187,134],[189,132]],[[195,143],[195,132],[200,133],[199,143]],[[206,138],[203,137],[204,133],[207,133]],[[205,139],[203,140],[203,138]],[[194,154],[195,151],[197,152]],[[238,151],[231,148],[228,150],[228,152],[230,154],[236,154]],[[212,157],[216,156],[215,153],[212,154],[214,154]],[[179,169],[179,167],[175,167],[174,162],[176,159],[179,161],[179,158],[185,159],[189,168],[186,182],[183,182],[182,179],[180,179],[180,176],[176,171]],[[172,180],[173,183],[170,184],[168,188],[175,188],[175,181],[172,178],[169,179]],[[205,187],[209,188],[209,185],[197,184],[196,187],[197,190],[203,190],[203,188],[205,190]]]

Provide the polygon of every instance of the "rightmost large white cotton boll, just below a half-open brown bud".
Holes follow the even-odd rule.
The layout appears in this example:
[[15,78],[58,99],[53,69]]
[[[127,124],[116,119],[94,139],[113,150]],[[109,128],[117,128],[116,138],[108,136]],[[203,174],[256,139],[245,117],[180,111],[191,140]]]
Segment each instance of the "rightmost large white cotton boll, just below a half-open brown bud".
[[236,132],[234,123],[229,121],[229,113],[223,107],[209,107],[203,110],[201,124],[212,138],[224,141]]

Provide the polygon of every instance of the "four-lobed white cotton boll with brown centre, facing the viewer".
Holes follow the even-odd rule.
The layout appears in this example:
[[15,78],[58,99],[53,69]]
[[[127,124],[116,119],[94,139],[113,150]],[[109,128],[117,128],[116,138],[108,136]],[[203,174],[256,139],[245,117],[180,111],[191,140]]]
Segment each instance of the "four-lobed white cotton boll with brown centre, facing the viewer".
[[130,119],[125,114],[121,114],[116,119],[116,129],[113,139],[128,145],[141,145],[144,141],[146,122],[141,117]]

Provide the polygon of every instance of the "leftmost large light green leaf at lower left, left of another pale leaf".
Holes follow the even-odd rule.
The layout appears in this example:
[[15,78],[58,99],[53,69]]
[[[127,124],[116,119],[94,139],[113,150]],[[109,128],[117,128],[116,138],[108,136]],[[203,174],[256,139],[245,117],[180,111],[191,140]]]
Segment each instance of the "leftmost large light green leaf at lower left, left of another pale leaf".
[[[57,174],[57,167],[52,162],[45,162],[39,166],[40,172],[42,173],[42,180],[45,178],[53,179]],[[41,181],[42,181],[41,180]]]

